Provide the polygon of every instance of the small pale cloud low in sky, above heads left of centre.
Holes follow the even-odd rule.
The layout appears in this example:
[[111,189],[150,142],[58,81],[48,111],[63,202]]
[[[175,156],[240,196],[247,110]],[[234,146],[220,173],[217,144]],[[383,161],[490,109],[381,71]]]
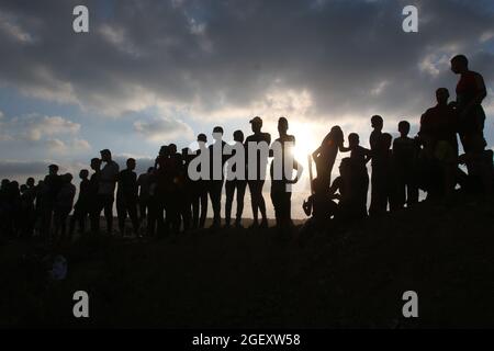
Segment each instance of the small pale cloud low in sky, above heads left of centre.
[[142,136],[153,141],[166,141],[176,138],[191,138],[191,127],[180,120],[169,117],[151,118],[148,121],[136,121],[134,129]]

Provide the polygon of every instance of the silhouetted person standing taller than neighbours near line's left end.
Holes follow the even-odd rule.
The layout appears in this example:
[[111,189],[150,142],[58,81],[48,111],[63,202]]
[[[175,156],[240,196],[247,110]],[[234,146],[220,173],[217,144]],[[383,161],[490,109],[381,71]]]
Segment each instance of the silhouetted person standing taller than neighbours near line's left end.
[[41,235],[44,239],[49,239],[55,202],[61,186],[61,178],[58,173],[57,165],[48,166],[48,174],[44,179],[42,196],[42,223]]

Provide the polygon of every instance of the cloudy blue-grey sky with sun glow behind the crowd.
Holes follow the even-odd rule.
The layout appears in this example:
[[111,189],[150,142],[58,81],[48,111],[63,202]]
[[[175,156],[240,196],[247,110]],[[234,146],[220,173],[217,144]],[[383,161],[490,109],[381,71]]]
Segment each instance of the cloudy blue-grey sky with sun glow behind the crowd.
[[[77,4],[89,33],[72,31]],[[418,33],[402,30],[407,4]],[[102,148],[143,169],[162,144],[215,125],[231,139],[255,115],[273,136],[287,116],[300,158],[335,124],[368,145],[372,114],[415,133],[436,88],[454,94],[458,53],[484,76],[494,145],[493,1],[0,0],[0,43],[1,178],[75,172]]]

